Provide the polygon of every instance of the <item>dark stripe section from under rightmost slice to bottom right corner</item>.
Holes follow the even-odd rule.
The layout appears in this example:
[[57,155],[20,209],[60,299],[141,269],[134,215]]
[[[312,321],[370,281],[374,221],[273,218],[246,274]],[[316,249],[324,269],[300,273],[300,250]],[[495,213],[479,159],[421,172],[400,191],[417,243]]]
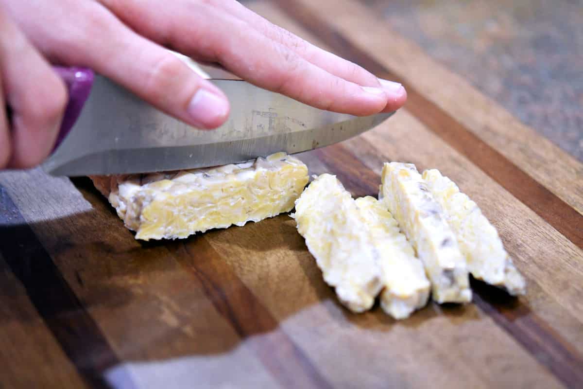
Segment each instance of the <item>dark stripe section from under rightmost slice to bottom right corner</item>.
[[569,388],[583,383],[583,356],[526,304],[502,290],[472,281],[473,302],[511,335],[541,365]]

